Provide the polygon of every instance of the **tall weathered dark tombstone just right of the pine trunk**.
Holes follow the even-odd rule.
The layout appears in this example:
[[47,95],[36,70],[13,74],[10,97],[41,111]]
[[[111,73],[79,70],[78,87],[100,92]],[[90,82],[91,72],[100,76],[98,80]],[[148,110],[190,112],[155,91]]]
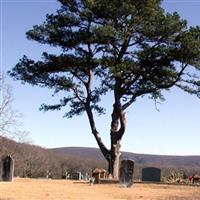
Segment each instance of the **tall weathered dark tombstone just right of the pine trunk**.
[[119,173],[119,184],[130,187],[133,184],[134,161],[122,160]]

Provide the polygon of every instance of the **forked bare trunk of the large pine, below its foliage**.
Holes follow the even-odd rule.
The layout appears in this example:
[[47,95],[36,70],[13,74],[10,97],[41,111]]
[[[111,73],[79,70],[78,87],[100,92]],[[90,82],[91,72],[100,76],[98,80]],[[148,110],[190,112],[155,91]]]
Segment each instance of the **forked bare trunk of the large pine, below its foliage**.
[[[116,97],[116,99],[118,98]],[[116,100],[116,102],[113,105],[113,113],[111,115],[112,121],[111,121],[111,132],[110,132],[110,136],[111,136],[110,150],[106,148],[106,146],[104,145],[100,137],[99,132],[96,129],[94,116],[93,116],[92,109],[89,102],[85,104],[85,109],[88,115],[92,134],[94,135],[104,158],[108,162],[109,175],[111,175],[113,179],[118,179],[119,178],[119,162],[120,162],[120,155],[121,155],[120,143],[121,143],[121,139],[126,128],[125,113],[123,112],[121,108],[120,100]]]

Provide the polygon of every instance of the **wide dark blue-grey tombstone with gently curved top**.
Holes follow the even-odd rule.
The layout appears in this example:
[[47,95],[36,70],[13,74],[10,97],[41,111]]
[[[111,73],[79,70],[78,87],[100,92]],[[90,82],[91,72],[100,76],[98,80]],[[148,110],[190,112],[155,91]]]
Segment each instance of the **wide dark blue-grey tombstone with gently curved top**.
[[156,167],[142,169],[142,181],[160,182],[161,170]]

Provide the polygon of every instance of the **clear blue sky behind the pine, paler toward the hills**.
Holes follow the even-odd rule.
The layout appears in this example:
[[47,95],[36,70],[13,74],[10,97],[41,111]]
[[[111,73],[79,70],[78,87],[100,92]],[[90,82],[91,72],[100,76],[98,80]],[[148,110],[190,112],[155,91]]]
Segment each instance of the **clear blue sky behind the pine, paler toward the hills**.
[[[189,25],[200,25],[200,1],[164,1],[163,7],[177,11]],[[41,24],[47,13],[58,8],[49,1],[1,0],[1,68],[7,71],[26,54],[40,59],[43,51],[59,49],[40,45],[26,39],[25,33],[35,24]],[[30,132],[34,144],[43,147],[89,146],[97,147],[86,115],[73,119],[62,118],[64,111],[39,111],[42,103],[56,102],[52,92],[38,87],[21,85],[8,80],[13,87],[13,107],[23,114],[24,129]],[[165,93],[166,101],[158,105],[147,98],[138,99],[127,112],[127,130],[122,150],[135,153],[166,155],[200,155],[199,114],[200,100],[178,89]],[[111,109],[111,98],[104,104]],[[110,113],[96,118],[97,128],[109,146]]]

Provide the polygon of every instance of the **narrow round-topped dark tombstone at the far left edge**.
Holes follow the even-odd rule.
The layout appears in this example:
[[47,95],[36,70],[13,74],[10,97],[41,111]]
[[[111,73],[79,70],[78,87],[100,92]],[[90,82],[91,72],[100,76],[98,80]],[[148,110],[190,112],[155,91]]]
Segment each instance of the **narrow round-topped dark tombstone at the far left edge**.
[[9,181],[11,182],[13,180],[14,175],[14,160],[13,158],[8,155],[4,156],[1,159],[1,180],[2,181]]

